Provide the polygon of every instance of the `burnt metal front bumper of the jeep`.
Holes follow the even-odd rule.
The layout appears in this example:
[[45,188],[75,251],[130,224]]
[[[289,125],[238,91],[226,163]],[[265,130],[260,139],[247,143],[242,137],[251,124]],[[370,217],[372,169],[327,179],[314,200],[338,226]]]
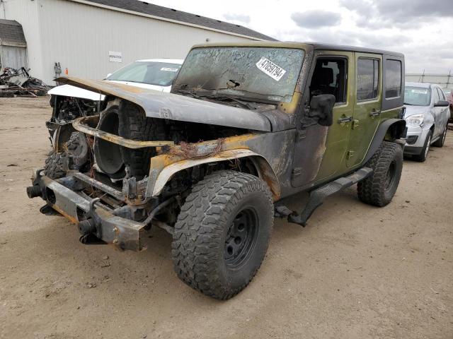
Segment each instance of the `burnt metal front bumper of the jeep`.
[[146,248],[141,241],[145,232],[144,223],[115,215],[114,210],[98,199],[77,191],[81,189],[82,183],[75,176],[52,180],[42,173],[42,169],[33,172],[33,186],[27,189],[30,198],[40,196],[48,206],[79,225],[79,229],[84,222],[86,224],[89,221],[93,234],[107,244],[132,251]]

